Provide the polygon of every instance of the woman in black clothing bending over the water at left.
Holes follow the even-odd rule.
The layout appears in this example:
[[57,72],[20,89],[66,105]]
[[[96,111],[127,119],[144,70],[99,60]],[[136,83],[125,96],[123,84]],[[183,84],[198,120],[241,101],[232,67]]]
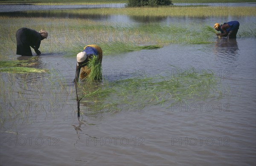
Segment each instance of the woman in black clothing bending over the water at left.
[[16,54],[22,56],[32,56],[30,47],[35,50],[37,55],[40,55],[41,52],[38,50],[41,44],[41,40],[46,39],[48,36],[47,31],[35,31],[29,28],[21,28],[16,32],[17,40],[17,51]]

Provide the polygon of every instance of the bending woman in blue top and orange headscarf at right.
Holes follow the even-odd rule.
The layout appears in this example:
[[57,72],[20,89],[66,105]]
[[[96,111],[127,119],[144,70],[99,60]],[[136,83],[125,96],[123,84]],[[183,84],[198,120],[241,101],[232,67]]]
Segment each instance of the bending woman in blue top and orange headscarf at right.
[[215,23],[213,27],[217,31],[221,31],[221,33],[217,33],[217,36],[223,36],[223,37],[227,36],[231,39],[231,38],[236,38],[239,25],[240,24],[238,21],[230,21],[230,22],[224,23],[223,25]]

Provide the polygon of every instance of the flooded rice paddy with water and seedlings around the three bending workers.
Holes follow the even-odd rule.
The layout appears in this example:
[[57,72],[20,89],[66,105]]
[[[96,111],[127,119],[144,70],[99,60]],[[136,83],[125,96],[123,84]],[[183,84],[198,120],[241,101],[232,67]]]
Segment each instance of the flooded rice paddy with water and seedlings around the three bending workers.
[[[255,15],[31,13],[0,14],[1,165],[255,165]],[[207,30],[230,20],[237,39]],[[48,31],[42,55],[15,54],[20,27]],[[103,80],[80,82],[78,118],[88,44]]]

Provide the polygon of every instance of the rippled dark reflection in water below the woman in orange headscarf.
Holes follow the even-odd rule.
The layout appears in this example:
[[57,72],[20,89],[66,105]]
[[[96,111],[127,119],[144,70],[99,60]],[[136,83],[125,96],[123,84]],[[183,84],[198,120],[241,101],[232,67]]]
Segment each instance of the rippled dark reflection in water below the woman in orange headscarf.
[[215,53],[218,57],[223,57],[231,61],[237,60],[239,47],[236,39],[222,37],[215,45]]

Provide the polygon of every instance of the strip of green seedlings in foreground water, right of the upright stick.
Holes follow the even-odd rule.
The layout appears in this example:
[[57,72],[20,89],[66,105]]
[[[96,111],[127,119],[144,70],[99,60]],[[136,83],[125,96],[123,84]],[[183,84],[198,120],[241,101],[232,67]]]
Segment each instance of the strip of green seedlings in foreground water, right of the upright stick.
[[79,95],[81,103],[86,103],[86,110],[90,111],[106,111],[106,108],[109,112],[120,111],[116,110],[120,108],[116,105],[131,106],[138,103],[140,106],[160,104],[167,109],[177,102],[220,98],[222,91],[218,87],[219,83],[214,73],[191,68],[180,74],[166,73],[163,76],[133,77],[113,82],[104,80],[101,84],[80,84],[82,93]]

